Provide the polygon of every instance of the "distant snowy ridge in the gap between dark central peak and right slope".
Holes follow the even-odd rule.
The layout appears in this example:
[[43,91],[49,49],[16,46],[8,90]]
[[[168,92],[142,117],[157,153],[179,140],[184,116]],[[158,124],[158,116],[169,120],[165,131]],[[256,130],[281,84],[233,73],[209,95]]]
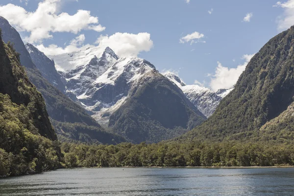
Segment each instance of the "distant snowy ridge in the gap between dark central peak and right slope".
[[207,118],[214,113],[221,99],[233,89],[220,89],[215,93],[209,88],[201,87],[199,85],[186,85],[177,75],[173,73],[165,73],[164,76],[176,84],[183,91],[186,97]]

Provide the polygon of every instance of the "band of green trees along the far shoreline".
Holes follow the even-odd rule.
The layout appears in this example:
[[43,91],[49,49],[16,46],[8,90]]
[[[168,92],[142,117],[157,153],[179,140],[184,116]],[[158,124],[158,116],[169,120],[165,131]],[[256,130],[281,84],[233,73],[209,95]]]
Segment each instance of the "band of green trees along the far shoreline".
[[294,145],[268,143],[63,143],[65,167],[293,166]]

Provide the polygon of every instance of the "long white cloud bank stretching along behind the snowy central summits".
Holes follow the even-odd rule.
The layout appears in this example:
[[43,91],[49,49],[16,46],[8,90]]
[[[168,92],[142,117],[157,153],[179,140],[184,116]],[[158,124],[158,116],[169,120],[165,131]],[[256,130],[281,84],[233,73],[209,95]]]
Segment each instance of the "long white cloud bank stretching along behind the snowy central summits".
[[[74,38],[65,48],[54,44],[49,45],[49,47],[45,47],[43,44],[36,47],[46,55],[70,53],[95,47],[90,44],[83,45],[84,41],[85,35],[81,34]],[[153,41],[150,39],[149,33],[115,33],[111,36],[100,36],[96,44],[103,49],[110,47],[119,56],[137,56],[141,51],[149,51],[153,46]]]

